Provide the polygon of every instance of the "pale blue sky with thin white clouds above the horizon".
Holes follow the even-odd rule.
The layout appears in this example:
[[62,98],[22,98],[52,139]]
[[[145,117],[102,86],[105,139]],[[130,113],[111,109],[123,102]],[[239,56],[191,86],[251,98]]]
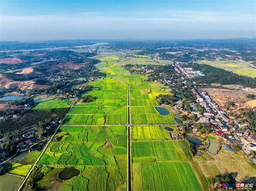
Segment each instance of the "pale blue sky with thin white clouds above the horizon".
[[255,37],[254,0],[1,0],[0,40]]

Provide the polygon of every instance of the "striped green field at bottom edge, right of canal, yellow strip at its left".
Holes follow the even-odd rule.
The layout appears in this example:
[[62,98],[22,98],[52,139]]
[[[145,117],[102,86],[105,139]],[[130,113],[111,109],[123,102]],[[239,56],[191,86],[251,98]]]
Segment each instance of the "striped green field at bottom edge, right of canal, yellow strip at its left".
[[133,190],[201,191],[188,162],[133,163]]

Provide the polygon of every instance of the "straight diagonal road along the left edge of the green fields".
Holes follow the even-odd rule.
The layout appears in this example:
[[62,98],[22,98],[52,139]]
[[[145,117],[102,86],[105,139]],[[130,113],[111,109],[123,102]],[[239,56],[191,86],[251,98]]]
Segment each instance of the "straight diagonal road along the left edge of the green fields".
[[[98,66],[98,64],[97,64]],[[96,70],[97,66],[95,67],[95,69],[93,70],[92,74],[90,77],[92,77],[94,71]],[[85,84],[85,86],[87,86],[88,82]],[[77,100],[77,98],[76,98]],[[52,135],[52,137],[50,138],[50,140],[47,142],[47,144],[45,145],[43,151],[41,152],[41,154],[39,155],[38,159],[35,161],[34,165],[32,166],[32,168],[29,170],[28,174],[26,175],[26,177],[24,178],[23,182],[20,184],[20,186],[17,188],[16,191],[20,191],[21,188],[23,187],[23,185],[25,184],[26,180],[29,178],[29,175],[32,173],[33,169],[35,168],[35,165],[38,163],[38,161],[40,160],[40,158],[42,157],[42,155],[44,154],[44,151],[46,150],[46,148],[48,147],[48,145],[50,144],[50,142],[52,141],[53,137],[55,136],[55,134],[57,133],[58,129],[61,127],[62,123],[64,122],[64,120],[66,119],[67,115],[70,113],[71,109],[73,108],[73,106],[76,103],[76,100],[74,101],[74,103],[71,105],[69,111],[67,112],[67,114],[65,115],[64,119],[62,120],[62,122],[60,123],[60,125],[58,125],[58,128],[55,130],[54,134]]]

